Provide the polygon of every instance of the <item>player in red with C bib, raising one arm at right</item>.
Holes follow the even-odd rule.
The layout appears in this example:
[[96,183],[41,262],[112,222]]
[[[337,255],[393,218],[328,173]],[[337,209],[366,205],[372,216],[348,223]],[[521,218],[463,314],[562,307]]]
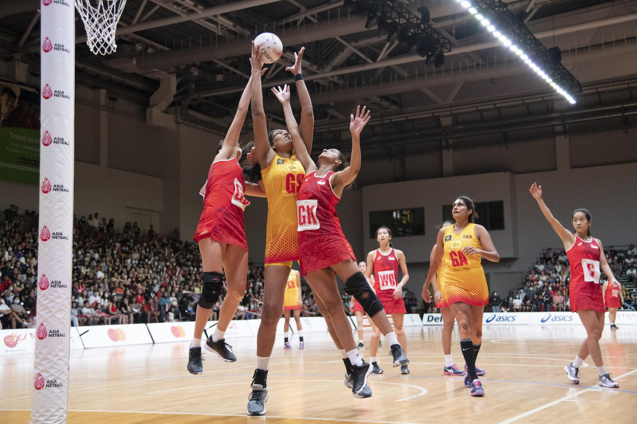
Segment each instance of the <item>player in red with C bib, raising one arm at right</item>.
[[590,212],[586,209],[576,209],[573,212],[573,228],[575,228],[575,234],[573,234],[555,219],[545,205],[542,200],[542,186],[538,186],[534,182],[529,191],[531,196],[538,201],[542,214],[548,223],[551,224],[555,233],[564,243],[568,263],[571,266],[571,280],[568,285],[571,311],[578,313],[587,334],[587,338],[580,346],[580,352],[571,364],[564,367],[564,371],[573,384],[579,384],[580,366],[590,353],[595,366],[598,367],[598,385],[619,387],[619,384],[613,381],[606,372],[599,348],[599,339],[604,330],[604,314],[606,312],[601,285],[599,285],[599,271],[603,271],[610,284],[619,286],[619,283],[608,266],[601,241],[590,236]]

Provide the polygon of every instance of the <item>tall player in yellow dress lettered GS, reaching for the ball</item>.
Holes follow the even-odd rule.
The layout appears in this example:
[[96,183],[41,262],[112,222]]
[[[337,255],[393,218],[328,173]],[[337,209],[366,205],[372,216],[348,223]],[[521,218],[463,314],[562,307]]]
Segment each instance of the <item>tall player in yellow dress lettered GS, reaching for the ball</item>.
[[[304,48],[295,53],[296,62],[286,68],[294,74],[301,103],[299,131],[311,151],[314,132],[314,115],[308,92],[301,74]],[[299,186],[305,178],[305,170],[296,158],[292,138],[283,129],[268,134],[266,115],[263,111],[261,68],[263,62],[259,47],[252,43],[252,121],[254,127],[255,154],[261,166],[261,178],[268,198],[268,224],[266,228],[266,255],[264,259],[263,309],[257,333],[257,367],[252,381],[252,393],[248,398],[248,415],[266,413],[268,400],[268,366],[275,344],[276,325],[283,310],[285,286],[290,275],[292,261],[299,259],[299,242],[296,222],[296,201]]]

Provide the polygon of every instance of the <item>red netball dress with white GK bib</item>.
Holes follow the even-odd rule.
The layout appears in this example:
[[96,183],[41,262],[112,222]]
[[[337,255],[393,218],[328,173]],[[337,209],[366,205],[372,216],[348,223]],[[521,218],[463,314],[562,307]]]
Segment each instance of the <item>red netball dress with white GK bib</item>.
[[299,265],[303,276],[347,259],[356,261],[336,214],[336,203],[340,197],[334,194],[329,183],[332,174],[334,172],[331,171],[325,177],[317,177],[316,171],[310,172],[299,189],[296,215]]

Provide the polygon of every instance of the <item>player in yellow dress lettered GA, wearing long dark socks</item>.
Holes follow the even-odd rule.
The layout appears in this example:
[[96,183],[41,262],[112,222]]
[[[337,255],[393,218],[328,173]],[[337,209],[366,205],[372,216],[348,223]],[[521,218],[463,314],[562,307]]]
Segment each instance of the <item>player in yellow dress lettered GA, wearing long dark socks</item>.
[[454,225],[438,231],[436,251],[429,264],[423,294],[429,299],[427,287],[433,282],[443,261],[444,292],[434,282],[436,301],[449,304],[460,329],[460,347],[464,356],[464,385],[471,387],[471,396],[483,396],[484,389],[476,374],[476,357],[482,345],[482,315],[489,303],[489,288],[482,269],[482,257],[499,262],[500,255],[491,236],[482,225],[475,224],[478,217],[473,200],[460,196],[452,205]]

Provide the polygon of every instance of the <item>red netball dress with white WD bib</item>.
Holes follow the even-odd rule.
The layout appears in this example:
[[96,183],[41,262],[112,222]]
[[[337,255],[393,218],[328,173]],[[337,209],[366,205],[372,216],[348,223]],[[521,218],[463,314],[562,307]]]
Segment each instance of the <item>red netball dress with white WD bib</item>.
[[380,249],[376,249],[374,255],[374,290],[378,300],[385,307],[386,313],[407,313],[404,308],[403,297],[394,299],[394,289],[398,285],[398,258],[396,251],[392,250],[383,255]]

